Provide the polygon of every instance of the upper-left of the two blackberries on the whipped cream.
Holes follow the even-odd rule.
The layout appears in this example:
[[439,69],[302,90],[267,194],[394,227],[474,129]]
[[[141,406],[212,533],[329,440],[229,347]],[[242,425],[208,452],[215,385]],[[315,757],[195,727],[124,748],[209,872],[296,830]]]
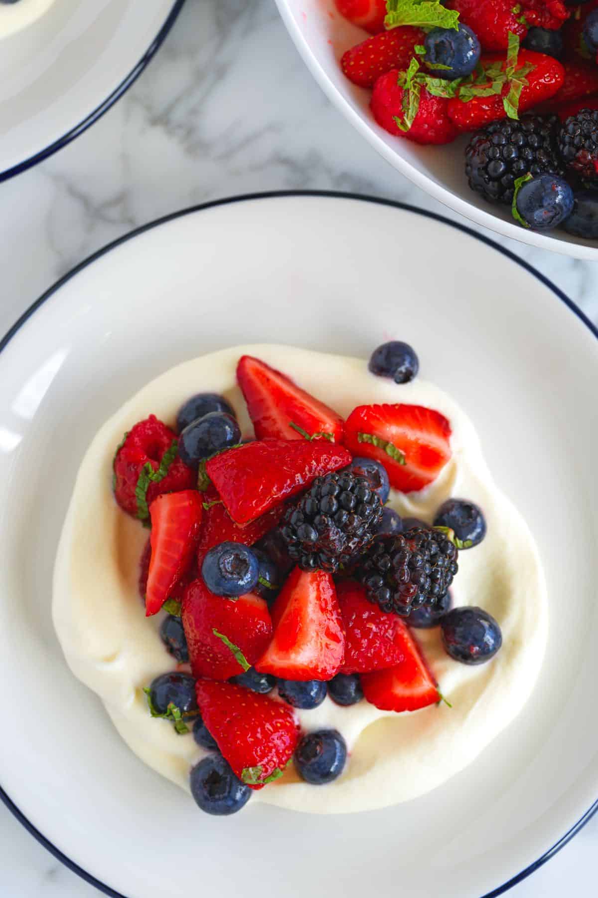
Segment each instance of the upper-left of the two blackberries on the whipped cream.
[[368,480],[351,471],[318,477],[282,517],[290,558],[303,570],[334,574],[364,550],[382,519]]

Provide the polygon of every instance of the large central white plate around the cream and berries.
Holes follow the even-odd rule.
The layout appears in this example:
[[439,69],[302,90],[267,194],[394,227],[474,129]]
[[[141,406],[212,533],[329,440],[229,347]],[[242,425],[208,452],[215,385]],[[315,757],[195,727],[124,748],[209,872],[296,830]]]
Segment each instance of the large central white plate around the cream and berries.
[[[442,898],[479,898],[548,857],[598,796],[598,334],[497,249],[379,201],[246,198],[112,244],[4,340],[0,783],[107,894],[183,898],[199,877],[221,898],[429,898],[438,883]],[[128,751],[52,629],[56,541],[82,453],[126,397],[204,351],[272,339],[365,358],[391,336],[471,415],[538,541],[551,615],[540,683],[476,762],[408,804],[201,814]]]

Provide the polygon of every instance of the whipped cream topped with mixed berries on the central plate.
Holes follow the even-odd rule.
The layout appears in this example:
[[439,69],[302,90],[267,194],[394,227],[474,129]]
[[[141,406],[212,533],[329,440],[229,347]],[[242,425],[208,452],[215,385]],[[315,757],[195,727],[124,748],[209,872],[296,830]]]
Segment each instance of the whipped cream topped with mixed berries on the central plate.
[[134,753],[207,814],[419,796],[533,689],[532,536],[419,369],[398,340],[369,362],[227,349],[148,384],[83,459],[56,632]]

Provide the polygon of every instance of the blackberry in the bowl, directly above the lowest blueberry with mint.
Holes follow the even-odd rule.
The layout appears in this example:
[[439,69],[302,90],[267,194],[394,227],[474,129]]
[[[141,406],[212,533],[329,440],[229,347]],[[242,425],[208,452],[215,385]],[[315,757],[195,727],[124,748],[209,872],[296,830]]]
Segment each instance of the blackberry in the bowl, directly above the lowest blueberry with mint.
[[515,181],[530,172],[559,174],[557,116],[497,121],[472,137],[465,150],[465,174],[472,190],[491,203],[513,202]]

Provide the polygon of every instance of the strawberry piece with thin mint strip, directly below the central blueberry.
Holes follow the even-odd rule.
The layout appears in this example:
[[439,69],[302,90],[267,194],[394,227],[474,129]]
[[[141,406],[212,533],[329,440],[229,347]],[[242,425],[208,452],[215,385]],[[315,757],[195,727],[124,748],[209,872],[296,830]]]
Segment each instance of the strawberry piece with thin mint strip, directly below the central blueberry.
[[181,616],[195,677],[228,680],[246,669],[214,629],[238,647],[248,665],[256,663],[272,638],[272,621],[264,599],[252,593],[235,601],[222,598],[211,593],[201,577],[187,586]]

